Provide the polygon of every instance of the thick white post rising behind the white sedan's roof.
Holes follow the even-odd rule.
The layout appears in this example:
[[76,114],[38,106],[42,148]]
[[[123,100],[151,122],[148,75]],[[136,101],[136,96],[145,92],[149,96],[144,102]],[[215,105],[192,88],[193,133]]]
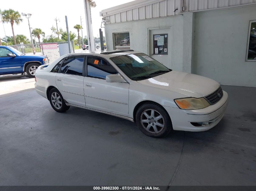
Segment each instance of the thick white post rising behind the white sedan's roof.
[[92,0],[83,0],[85,5],[85,21],[86,21],[86,30],[87,30],[87,39],[89,45],[89,52],[95,51],[95,44],[92,32],[92,22],[91,22],[91,7],[96,7],[95,2]]

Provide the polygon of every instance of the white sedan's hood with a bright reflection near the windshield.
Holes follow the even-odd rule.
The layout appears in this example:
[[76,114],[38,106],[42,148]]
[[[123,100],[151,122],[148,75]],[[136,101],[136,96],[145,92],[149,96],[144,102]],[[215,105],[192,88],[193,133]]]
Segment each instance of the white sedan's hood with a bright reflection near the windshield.
[[137,81],[140,84],[173,91],[188,97],[204,97],[218,89],[220,84],[203,76],[171,71],[153,78]]

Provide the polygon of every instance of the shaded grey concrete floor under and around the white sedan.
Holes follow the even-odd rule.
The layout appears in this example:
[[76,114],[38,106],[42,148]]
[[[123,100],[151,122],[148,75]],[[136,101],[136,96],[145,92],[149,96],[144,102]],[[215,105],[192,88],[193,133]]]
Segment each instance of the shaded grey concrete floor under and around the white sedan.
[[34,89],[0,95],[0,185],[256,185],[256,88],[222,88],[217,126],[161,139],[114,116],[57,113]]

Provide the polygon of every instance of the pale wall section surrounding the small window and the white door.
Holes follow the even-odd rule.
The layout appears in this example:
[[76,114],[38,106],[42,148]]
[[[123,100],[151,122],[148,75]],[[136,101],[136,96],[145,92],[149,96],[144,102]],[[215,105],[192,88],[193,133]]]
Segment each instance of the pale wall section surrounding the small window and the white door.
[[[106,24],[105,35],[108,49],[114,49],[113,33],[129,32],[130,48],[148,54],[148,29],[171,27],[171,69],[182,71],[183,62],[183,16],[153,18],[124,23]],[[186,30],[186,29],[185,29]]]

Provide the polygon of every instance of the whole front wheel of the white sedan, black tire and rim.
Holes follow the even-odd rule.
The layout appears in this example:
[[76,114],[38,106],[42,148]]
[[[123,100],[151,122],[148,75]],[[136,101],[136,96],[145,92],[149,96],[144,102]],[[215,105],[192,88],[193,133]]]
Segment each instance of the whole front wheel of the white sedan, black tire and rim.
[[153,102],[143,104],[136,112],[139,129],[150,137],[161,138],[172,129],[171,118],[161,105]]

